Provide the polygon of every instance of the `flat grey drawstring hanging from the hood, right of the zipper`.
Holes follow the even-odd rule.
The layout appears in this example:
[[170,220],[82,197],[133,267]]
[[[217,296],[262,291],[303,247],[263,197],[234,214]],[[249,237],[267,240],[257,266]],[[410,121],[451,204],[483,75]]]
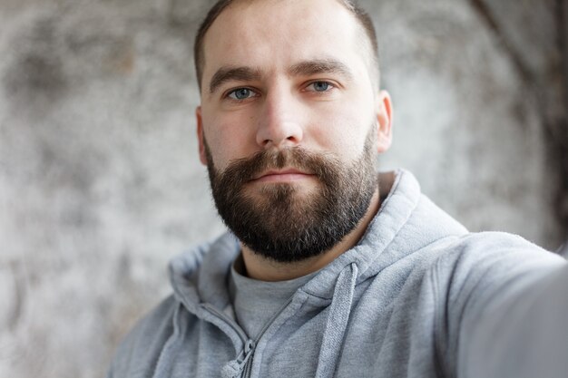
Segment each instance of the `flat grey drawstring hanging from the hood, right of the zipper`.
[[351,263],[338,276],[331,305],[329,305],[328,323],[319,349],[316,378],[331,377],[335,373],[343,345],[343,336],[351,313],[357,272],[357,264]]

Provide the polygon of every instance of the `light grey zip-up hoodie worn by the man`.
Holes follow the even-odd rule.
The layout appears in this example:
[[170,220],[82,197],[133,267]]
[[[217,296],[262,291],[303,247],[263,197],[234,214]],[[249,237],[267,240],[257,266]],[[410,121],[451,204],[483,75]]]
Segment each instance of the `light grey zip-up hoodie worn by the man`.
[[227,311],[236,238],[174,259],[173,295],[126,336],[108,377],[568,377],[566,261],[468,233],[411,173],[393,177],[357,246],[254,339]]

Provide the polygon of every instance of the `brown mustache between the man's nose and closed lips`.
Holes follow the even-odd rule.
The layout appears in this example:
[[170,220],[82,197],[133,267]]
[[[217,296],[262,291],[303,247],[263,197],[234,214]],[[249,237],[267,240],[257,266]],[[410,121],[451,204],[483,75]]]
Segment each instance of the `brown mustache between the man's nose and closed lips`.
[[262,150],[248,158],[233,160],[222,172],[224,180],[244,184],[267,170],[292,168],[315,175],[326,180],[340,166],[330,153],[310,152],[301,147],[285,150]]

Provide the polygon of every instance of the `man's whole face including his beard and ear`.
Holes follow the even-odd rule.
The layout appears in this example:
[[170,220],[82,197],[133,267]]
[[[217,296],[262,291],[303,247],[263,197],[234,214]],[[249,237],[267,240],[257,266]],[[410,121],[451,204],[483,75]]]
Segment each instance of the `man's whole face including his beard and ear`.
[[240,1],[204,43],[198,137],[221,217],[279,261],[333,247],[365,214],[390,142],[357,21],[334,0]]

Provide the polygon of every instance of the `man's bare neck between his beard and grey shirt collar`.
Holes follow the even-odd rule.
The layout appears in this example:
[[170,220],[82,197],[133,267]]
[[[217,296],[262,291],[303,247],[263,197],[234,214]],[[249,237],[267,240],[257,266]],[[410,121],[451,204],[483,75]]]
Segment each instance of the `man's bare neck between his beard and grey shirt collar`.
[[353,229],[346,237],[328,251],[316,257],[311,257],[294,263],[279,263],[269,260],[253,252],[249,247],[240,245],[242,258],[246,268],[247,276],[260,281],[286,281],[289,279],[306,276],[316,272],[322,267],[327,266],[348,249],[355,247],[357,242],[363,237],[367,230],[368,224],[377,214],[380,206],[378,190],[371,199],[371,203],[367,208],[365,216],[361,218],[357,227]]

